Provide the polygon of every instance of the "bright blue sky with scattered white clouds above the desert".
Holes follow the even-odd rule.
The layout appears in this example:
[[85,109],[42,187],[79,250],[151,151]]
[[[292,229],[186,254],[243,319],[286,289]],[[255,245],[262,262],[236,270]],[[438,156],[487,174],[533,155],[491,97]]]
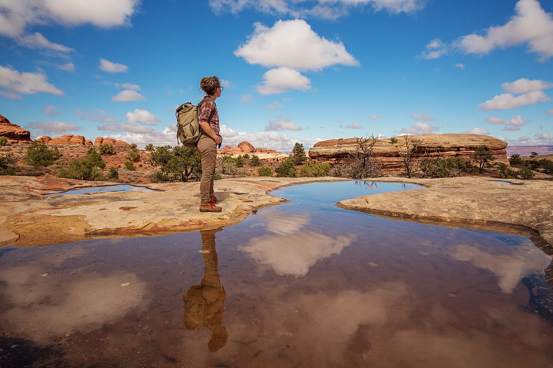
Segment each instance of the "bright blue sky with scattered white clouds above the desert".
[[478,133],[553,144],[550,0],[0,0],[0,114],[176,144],[216,75],[223,145]]

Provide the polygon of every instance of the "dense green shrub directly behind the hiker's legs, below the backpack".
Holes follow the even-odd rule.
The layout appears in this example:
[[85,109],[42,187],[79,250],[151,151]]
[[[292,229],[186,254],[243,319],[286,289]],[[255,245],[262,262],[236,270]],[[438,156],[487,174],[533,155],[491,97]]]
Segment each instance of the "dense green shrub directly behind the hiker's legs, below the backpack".
[[150,175],[151,182],[188,182],[200,180],[202,163],[196,148],[183,146],[156,146],[150,153],[150,162],[160,166]]

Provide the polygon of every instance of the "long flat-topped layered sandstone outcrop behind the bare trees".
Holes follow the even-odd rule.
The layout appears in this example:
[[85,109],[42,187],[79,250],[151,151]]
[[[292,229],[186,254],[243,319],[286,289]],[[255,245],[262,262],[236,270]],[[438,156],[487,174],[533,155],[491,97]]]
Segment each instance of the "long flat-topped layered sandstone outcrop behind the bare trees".
[[[405,148],[405,139],[404,137],[396,137],[397,142],[395,143],[392,143],[391,139],[380,139],[373,147],[375,162],[380,164],[384,172],[400,171],[402,168],[400,149]],[[409,135],[407,139],[410,142],[420,142],[415,157],[460,157],[470,159],[474,151],[484,147],[491,151],[496,158],[496,162],[509,165],[505,151],[507,142],[489,135],[422,134]],[[315,162],[350,163],[351,157],[355,155],[356,147],[355,138],[329,139],[316,143],[308,154],[310,159]]]

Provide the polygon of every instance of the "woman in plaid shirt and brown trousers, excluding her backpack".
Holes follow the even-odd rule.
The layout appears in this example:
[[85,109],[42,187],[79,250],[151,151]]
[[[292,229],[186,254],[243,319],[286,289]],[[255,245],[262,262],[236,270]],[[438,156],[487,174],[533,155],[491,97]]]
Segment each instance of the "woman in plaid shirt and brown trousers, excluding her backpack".
[[198,122],[202,134],[196,149],[202,158],[202,179],[200,180],[200,212],[221,212],[216,206],[217,197],[213,192],[213,177],[217,159],[217,145],[221,147],[223,137],[219,133],[219,114],[215,100],[221,96],[223,86],[217,77],[205,77],[200,81],[200,88],[205,93],[198,108]]

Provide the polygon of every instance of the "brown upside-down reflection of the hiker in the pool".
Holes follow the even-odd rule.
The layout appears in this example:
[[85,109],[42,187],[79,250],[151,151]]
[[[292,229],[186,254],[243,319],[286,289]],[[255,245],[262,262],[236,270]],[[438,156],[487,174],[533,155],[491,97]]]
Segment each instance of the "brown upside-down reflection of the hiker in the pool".
[[207,343],[210,351],[218,351],[224,347],[229,336],[227,329],[221,325],[227,293],[217,271],[217,231],[221,229],[200,231],[205,273],[201,284],[191,287],[182,297],[185,301],[185,327],[194,330],[205,326],[212,331],[212,338]]

